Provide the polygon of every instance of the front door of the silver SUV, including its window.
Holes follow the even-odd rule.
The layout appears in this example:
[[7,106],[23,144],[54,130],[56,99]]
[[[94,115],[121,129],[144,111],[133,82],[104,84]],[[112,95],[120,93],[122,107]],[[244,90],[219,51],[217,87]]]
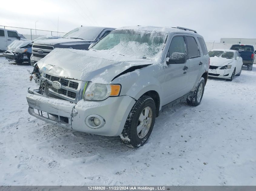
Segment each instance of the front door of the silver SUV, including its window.
[[[182,34],[175,34],[172,37],[167,53],[167,61],[173,53],[184,53],[187,55],[185,38]],[[187,83],[189,65],[187,60],[182,64],[168,62],[166,64],[165,82],[163,85],[163,105],[168,104],[188,93]]]

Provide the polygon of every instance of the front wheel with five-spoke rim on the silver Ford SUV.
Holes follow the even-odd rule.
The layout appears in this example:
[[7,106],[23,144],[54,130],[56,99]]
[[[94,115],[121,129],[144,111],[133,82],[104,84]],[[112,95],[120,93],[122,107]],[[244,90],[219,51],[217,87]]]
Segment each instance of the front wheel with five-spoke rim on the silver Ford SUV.
[[[147,117],[145,111],[148,111]],[[126,119],[124,129],[120,135],[121,142],[132,148],[138,148],[141,145],[144,145],[154,127],[155,117],[155,101],[150,96],[141,96],[132,107],[128,118]],[[138,130],[139,132],[137,132],[137,128],[141,129],[141,131]]]

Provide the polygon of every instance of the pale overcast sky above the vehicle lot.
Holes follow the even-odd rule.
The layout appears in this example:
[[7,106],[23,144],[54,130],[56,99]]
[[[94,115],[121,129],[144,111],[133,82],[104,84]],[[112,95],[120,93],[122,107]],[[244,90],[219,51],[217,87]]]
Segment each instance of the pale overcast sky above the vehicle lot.
[[35,21],[37,29],[60,32],[81,25],[116,28],[151,25],[191,28],[206,41],[256,38],[256,0],[1,1],[0,25],[34,29]]

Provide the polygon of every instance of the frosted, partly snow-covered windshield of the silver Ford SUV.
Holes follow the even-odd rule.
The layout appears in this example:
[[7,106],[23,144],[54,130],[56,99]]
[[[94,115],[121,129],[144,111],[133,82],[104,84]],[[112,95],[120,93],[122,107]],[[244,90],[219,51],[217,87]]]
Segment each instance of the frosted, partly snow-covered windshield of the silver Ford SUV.
[[135,58],[153,58],[162,50],[167,33],[137,30],[113,30],[92,49],[112,50]]

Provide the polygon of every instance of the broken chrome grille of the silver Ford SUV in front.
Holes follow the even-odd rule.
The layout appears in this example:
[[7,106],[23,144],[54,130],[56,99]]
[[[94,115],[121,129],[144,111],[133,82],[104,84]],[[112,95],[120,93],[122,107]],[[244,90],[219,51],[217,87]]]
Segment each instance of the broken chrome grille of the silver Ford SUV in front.
[[[61,100],[68,100],[70,102],[77,103],[79,93],[78,82],[48,74],[45,74],[45,76],[43,76],[42,79],[45,79],[45,82],[43,82],[45,87],[42,93],[44,96],[53,97]],[[53,88],[53,81],[60,82],[62,87],[58,90]]]

